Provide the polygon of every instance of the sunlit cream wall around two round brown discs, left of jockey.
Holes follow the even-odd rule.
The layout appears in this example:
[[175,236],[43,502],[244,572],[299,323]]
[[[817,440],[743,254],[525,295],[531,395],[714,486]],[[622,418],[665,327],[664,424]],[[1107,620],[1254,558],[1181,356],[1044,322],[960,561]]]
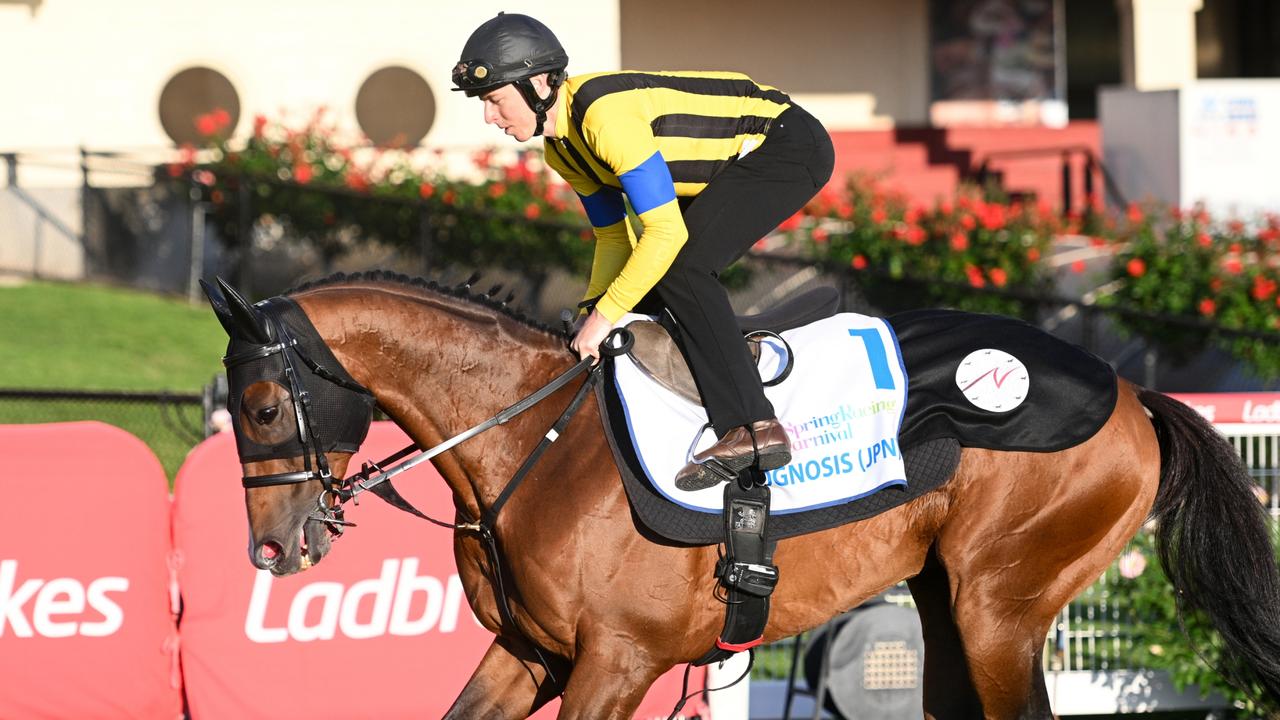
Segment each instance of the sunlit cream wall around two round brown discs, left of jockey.
[[[480,104],[449,92],[449,73],[471,31],[498,10],[515,10],[511,5],[0,0],[0,151],[168,146],[160,92],[192,65],[212,68],[236,86],[241,132],[257,113],[306,117],[321,105],[343,127],[358,129],[355,100],[364,79],[384,65],[404,65],[435,94],[425,143],[498,143],[503,138],[484,126]],[[617,0],[529,0],[518,9],[553,27],[576,67],[618,68]],[[29,182],[44,181],[32,173]]]

